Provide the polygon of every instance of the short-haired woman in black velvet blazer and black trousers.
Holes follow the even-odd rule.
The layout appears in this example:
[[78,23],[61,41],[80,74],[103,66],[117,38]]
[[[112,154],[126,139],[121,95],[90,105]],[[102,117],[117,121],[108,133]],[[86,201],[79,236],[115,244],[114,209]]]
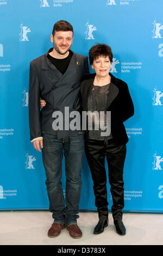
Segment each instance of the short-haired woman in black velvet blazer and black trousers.
[[[105,44],[96,44],[89,51],[90,65],[95,74],[87,75],[81,86],[83,111],[103,111],[102,120],[107,126],[107,112],[111,112],[111,133],[101,136],[101,116],[92,119],[98,130],[86,131],[85,154],[92,174],[95,205],[98,210],[99,221],[94,234],[100,234],[108,225],[108,201],[106,190],[105,156],[108,162],[109,183],[112,194],[112,216],[118,234],[126,234],[122,222],[122,209],[124,207],[123,195],[123,166],[126,157],[126,143],[128,137],[123,122],[134,114],[128,86],[122,80],[109,73],[112,63],[111,48]],[[93,117],[93,115],[92,115]],[[89,119],[89,118],[88,118]],[[89,121],[88,128],[89,128]],[[94,127],[95,127],[94,125]],[[93,127],[93,126],[92,126]]]

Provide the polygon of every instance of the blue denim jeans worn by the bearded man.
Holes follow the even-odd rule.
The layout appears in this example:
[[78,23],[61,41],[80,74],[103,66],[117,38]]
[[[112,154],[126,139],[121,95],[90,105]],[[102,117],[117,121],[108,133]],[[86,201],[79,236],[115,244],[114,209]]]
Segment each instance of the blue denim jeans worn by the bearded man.
[[[42,134],[42,159],[46,170],[49,211],[54,222],[76,224],[82,187],[81,172],[84,156],[84,134],[58,139],[49,133]],[[66,198],[62,192],[62,154],[65,156]]]

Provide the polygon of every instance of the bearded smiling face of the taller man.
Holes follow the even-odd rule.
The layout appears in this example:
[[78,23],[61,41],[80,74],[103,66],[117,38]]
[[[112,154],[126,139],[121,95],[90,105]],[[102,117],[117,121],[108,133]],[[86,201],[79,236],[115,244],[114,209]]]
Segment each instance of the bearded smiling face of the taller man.
[[51,35],[51,41],[53,42],[55,51],[64,55],[71,48],[73,33],[72,31],[55,31],[54,37]]

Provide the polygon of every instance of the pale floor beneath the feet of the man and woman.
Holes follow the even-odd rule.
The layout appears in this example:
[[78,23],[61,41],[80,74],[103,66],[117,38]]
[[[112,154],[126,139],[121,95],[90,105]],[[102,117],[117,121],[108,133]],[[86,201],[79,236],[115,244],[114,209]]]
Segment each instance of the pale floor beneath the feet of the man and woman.
[[123,214],[127,233],[115,232],[112,215],[104,233],[93,235],[98,221],[97,212],[80,212],[78,225],[83,231],[80,239],[70,237],[66,229],[55,238],[47,231],[53,222],[48,211],[0,212],[0,245],[163,245],[163,215]]

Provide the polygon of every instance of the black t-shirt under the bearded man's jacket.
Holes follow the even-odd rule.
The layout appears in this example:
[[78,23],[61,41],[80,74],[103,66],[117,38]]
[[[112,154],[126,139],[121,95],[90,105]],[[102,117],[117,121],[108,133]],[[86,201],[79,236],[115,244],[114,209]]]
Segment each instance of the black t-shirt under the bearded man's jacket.
[[69,54],[66,58],[64,59],[56,59],[53,58],[51,55],[47,55],[48,59],[50,62],[61,72],[62,75],[66,72],[68,65],[70,63],[71,57],[72,57],[72,52],[69,51]]

